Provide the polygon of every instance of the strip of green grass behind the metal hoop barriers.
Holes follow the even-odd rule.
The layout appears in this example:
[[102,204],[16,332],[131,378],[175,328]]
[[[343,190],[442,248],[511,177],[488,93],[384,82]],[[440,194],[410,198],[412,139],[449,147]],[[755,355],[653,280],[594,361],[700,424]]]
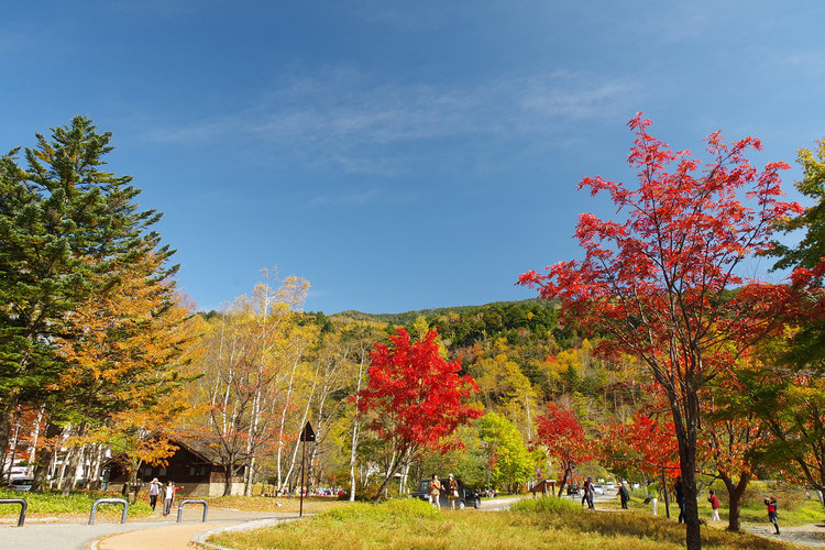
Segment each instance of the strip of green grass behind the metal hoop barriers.
[[[23,498],[29,503],[26,517],[31,516],[89,516],[91,506],[98,498],[120,498],[120,494],[80,491],[63,496],[56,491],[46,493],[28,493],[0,488],[0,498]],[[120,505],[98,505],[97,515],[100,517],[120,516]],[[129,505],[130,517],[145,517],[152,513],[152,508],[145,502]],[[0,517],[18,517],[19,505],[0,505]]]

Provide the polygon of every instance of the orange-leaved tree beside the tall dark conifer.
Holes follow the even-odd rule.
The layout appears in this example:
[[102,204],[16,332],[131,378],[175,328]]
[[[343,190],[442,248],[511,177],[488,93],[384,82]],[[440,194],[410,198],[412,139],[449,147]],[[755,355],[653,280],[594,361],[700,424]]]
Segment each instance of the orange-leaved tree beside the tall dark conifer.
[[[111,444],[131,486],[141,463],[161,463],[175,451],[168,437],[187,408],[180,392],[191,380],[186,365],[200,329],[174,284],[155,276],[162,261],[146,254],[120,266],[118,284],[90,296],[57,341],[66,367],[54,389],[72,425],[63,442],[70,473],[90,442]],[[73,484],[69,475],[64,492]]]

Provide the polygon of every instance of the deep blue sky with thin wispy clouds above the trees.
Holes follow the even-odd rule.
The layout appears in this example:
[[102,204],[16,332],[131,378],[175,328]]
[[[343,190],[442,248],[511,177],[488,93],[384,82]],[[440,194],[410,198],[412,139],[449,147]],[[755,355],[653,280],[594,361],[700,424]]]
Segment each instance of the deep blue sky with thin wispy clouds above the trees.
[[[675,148],[825,136],[825,2],[12,2],[0,150],[91,117],[110,168],[165,212],[202,309],[260,270],[306,308],[522,299],[576,256],[583,175],[631,177],[625,123]],[[788,174],[790,189],[799,170]]]

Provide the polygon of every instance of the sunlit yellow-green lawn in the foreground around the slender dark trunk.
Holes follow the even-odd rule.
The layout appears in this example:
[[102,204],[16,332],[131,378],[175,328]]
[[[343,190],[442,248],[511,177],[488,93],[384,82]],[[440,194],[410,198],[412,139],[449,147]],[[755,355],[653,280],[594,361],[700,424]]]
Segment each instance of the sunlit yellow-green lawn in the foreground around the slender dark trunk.
[[[224,534],[211,542],[258,548],[676,549],[684,528],[644,513],[583,510],[553,497],[525,499],[512,512],[438,512],[417,499],[356,503],[304,521]],[[791,549],[781,541],[703,530],[703,548]]]

